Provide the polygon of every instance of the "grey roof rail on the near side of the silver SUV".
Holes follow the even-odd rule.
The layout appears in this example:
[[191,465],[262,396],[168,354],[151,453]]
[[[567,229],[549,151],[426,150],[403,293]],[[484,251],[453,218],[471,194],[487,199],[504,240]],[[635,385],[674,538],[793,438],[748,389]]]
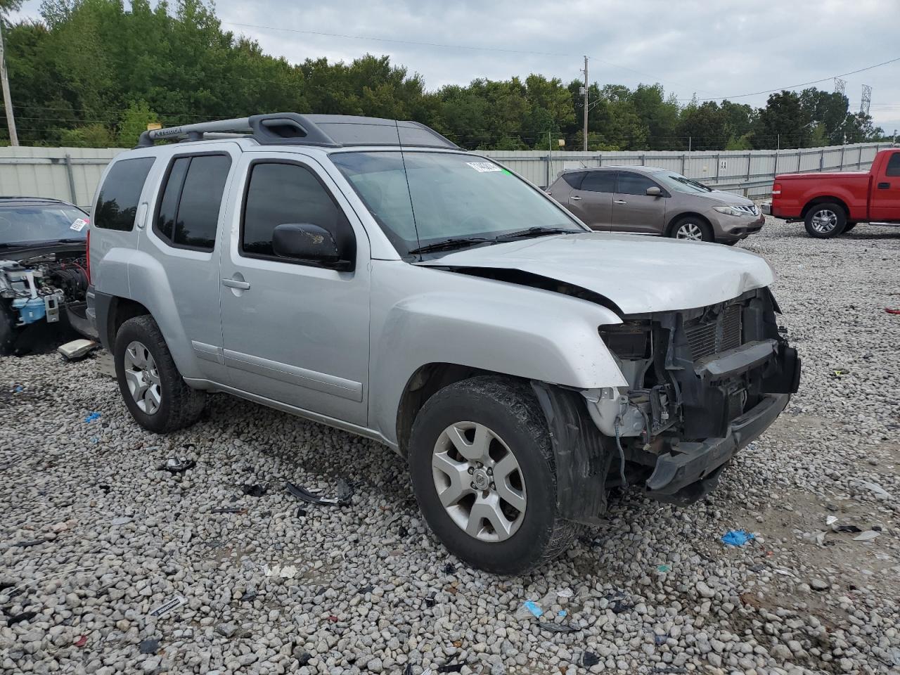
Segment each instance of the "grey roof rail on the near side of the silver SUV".
[[[207,134],[210,134],[208,137]],[[147,130],[140,134],[138,148],[149,148],[161,139],[202,140],[223,138],[221,134],[233,134],[225,138],[243,135],[260,143],[302,143],[338,148],[340,143],[320,130],[315,122],[297,112],[269,112],[262,115],[238,117],[233,120],[201,121],[178,127]]]

